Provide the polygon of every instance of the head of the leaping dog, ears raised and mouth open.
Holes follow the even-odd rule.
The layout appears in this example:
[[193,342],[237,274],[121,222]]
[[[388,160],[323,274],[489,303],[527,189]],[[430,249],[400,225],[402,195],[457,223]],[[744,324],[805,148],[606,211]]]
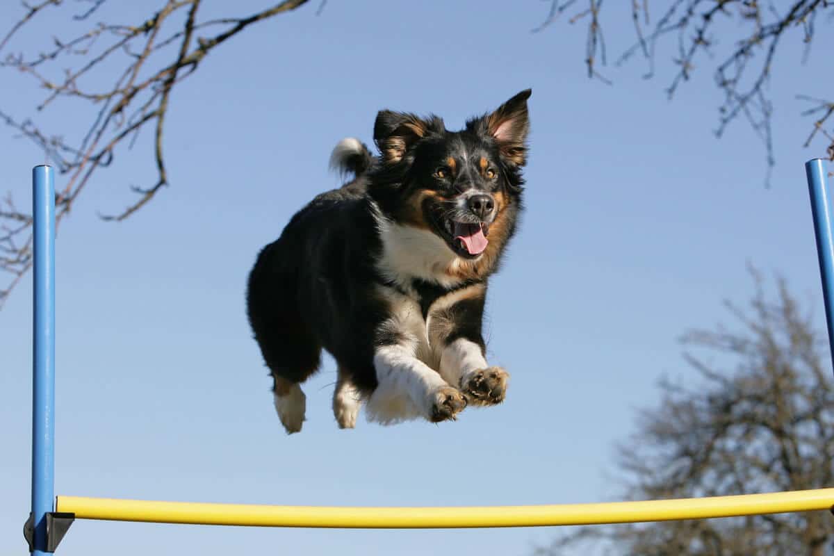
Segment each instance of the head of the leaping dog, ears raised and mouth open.
[[434,116],[380,112],[371,193],[385,218],[434,233],[457,257],[485,257],[491,267],[520,209],[528,98],[529,89],[459,132]]

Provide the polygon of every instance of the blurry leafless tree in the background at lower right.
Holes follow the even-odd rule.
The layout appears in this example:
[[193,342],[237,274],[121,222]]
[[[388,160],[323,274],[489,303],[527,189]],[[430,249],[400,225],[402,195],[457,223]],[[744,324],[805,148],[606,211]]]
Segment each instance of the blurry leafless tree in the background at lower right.
[[[834,388],[826,336],[784,280],[768,300],[761,276],[749,308],[726,303],[735,329],[686,334],[696,386],[661,381],[617,450],[625,498],[663,499],[827,488],[834,473]],[[828,512],[580,528],[539,556],[590,543],[593,553],[822,556],[834,553]],[[605,550],[604,550],[605,548]]]

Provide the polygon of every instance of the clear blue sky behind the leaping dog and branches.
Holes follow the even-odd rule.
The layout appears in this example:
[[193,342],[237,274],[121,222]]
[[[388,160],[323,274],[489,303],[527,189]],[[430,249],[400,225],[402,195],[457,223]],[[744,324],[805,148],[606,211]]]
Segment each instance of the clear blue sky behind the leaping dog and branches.
[[[206,11],[268,3],[223,4]],[[19,17],[10,6],[0,21]],[[310,505],[616,499],[612,444],[634,430],[636,408],[656,403],[657,378],[692,378],[677,338],[727,322],[721,300],[749,297],[748,261],[783,273],[822,328],[802,164],[823,144],[801,148],[811,123],[795,95],[831,98],[822,55],[834,50],[831,34],[818,33],[805,65],[798,32],[783,43],[770,86],[777,166],[765,188],[751,130],[712,134],[721,95],[706,62],[671,103],[665,61],[652,81],[640,62],[604,70],[613,87],[591,81],[584,24],[530,33],[547,7],[331,0],[318,17],[310,5],[211,53],[171,100],[171,187],[124,223],[96,216],[127,206],[129,184],[153,179],[148,134],[97,174],[62,224],[56,493]],[[615,53],[633,31],[627,14],[608,9]],[[136,4],[110,14],[145,15]],[[43,25],[70,33],[64,18]],[[18,47],[39,44],[24,36]],[[512,374],[506,403],[441,426],[360,419],[339,431],[327,359],[304,387],[304,432],[285,435],[244,314],[259,248],[338,185],[330,149],[349,135],[370,142],[380,108],[438,113],[456,128],[523,88],[533,89],[528,210],[491,283],[486,327],[490,360]],[[3,73],[3,108],[41,94]],[[47,115],[57,128],[83,121],[83,105],[57,108]],[[19,205],[41,162],[38,148],[0,133],[0,185]],[[29,504],[30,281],[0,313],[0,553],[9,554],[25,551]],[[80,522],[60,553],[524,554],[556,533]]]

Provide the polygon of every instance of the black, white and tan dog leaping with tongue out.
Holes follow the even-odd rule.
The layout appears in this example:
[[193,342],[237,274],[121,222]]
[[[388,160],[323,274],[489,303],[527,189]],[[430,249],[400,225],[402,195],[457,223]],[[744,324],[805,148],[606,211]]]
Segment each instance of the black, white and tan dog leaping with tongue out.
[[353,179],[322,193],[264,247],[249,273],[249,323],[287,433],[322,349],[337,362],[333,410],[371,422],[455,420],[501,403],[510,375],[481,332],[487,282],[522,210],[530,89],[447,131],[431,115],[383,110],[379,155],[355,138],[331,166]]

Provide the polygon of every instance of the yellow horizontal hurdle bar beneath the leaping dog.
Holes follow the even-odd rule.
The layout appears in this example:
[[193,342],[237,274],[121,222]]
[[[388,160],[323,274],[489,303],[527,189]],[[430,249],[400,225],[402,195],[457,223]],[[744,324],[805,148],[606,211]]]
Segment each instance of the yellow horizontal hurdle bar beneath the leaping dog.
[[834,506],[834,488],[641,502],[540,506],[351,508],[156,502],[58,496],[56,511],[80,519],[313,528],[475,528],[634,523],[802,512]]

